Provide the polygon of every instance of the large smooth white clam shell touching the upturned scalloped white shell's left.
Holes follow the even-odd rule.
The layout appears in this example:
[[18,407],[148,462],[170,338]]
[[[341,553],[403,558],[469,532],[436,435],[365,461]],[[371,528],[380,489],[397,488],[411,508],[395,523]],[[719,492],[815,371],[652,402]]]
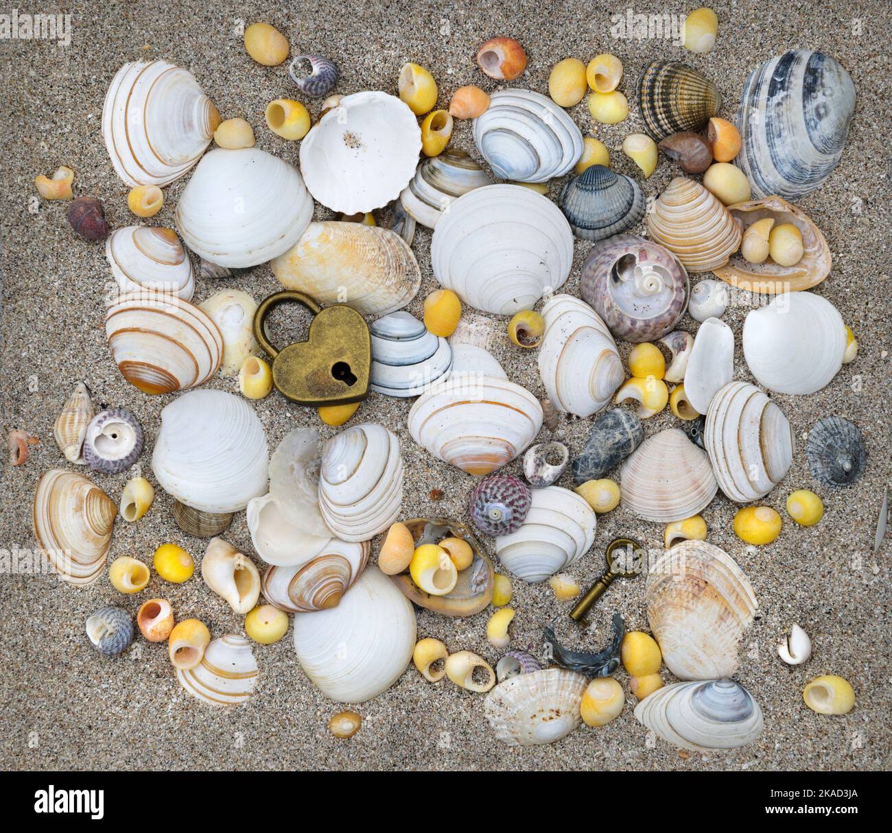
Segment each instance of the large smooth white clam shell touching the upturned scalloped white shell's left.
[[207,153],[179,198],[177,228],[196,255],[255,266],[290,249],[313,218],[297,168],[260,148]]

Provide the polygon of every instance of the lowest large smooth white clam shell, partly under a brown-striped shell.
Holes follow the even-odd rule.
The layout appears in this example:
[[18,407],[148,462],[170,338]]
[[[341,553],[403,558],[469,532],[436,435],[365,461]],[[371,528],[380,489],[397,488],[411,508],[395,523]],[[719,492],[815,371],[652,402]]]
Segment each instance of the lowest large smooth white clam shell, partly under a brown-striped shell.
[[415,649],[415,611],[377,567],[368,567],[336,608],[294,617],[301,668],[327,697],[362,703],[389,689]]

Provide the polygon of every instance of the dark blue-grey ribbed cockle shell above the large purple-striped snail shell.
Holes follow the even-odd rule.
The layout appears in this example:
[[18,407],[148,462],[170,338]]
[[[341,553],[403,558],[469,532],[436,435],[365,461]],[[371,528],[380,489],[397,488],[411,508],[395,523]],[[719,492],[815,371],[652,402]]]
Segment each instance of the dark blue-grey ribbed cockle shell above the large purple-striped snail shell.
[[571,179],[558,201],[573,233],[591,241],[604,240],[640,223],[647,207],[638,183],[603,165],[587,167]]

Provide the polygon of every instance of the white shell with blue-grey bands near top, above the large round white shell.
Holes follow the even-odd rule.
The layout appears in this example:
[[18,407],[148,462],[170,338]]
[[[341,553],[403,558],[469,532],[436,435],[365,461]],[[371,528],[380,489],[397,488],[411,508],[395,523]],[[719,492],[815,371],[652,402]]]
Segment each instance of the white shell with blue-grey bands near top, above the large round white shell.
[[582,156],[582,134],[555,102],[531,90],[499,90],[474,119],[474,141],[499,179],[543,183]]

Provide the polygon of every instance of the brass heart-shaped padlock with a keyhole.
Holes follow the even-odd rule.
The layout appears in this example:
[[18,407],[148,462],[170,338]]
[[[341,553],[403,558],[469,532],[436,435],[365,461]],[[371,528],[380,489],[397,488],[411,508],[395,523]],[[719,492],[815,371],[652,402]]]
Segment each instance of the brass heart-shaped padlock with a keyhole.
[[[279,350],[267,338],[263,323],[274,306],[289,302],[306,306],[314,318],[306,341]],[[264,298],[254,313],[254,338],[272,356],[273,384],[292,402],[319,408],[368,396],[372,341],[368,324],[350,306],[322,309],[303,292],[276,292]]]

